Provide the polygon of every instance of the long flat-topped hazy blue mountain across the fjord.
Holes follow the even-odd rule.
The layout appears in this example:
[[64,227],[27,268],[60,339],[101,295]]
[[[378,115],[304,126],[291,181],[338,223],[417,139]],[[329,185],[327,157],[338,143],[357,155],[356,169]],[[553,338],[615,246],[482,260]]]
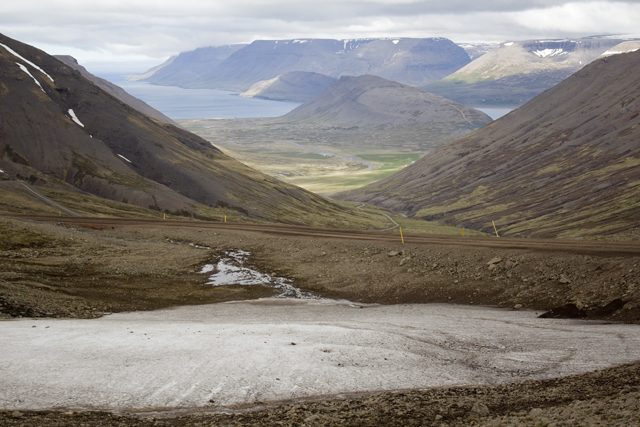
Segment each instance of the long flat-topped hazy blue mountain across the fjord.
[[463,48],[444,38],[257,40],[223,61],[219,48],[182,53],[145,81],[188,88],[246,91],[289,71],[339,78],[373,74],[408,85],[439,80],[469,63]]

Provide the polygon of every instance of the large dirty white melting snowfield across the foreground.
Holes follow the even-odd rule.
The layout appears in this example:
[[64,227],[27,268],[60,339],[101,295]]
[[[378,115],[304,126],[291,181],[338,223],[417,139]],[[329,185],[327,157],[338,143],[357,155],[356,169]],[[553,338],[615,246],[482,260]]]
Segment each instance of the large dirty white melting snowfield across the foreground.
[[640,327],[272,299],[0,321],[0,408],[169,410],[495,384],[640,359]]

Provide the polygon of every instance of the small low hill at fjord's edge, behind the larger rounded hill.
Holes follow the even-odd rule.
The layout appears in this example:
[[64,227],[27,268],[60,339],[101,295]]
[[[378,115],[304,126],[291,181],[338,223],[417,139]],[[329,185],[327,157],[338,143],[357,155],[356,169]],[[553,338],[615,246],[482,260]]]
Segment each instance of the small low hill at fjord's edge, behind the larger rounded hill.
[[274,101],[306,102],[320,95],[336,79],[318,73],[290,71],[271,80],[255,83],[240,96]]

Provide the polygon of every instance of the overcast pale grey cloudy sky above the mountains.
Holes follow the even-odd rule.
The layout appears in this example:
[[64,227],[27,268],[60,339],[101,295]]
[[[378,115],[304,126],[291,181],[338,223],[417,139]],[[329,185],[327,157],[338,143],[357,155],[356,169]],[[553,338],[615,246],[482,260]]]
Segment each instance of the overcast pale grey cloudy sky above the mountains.
[[257,39],[447,37],[455,42],[634,34],[640,0],[7,0],[0,32],[94,73],[143,71]]

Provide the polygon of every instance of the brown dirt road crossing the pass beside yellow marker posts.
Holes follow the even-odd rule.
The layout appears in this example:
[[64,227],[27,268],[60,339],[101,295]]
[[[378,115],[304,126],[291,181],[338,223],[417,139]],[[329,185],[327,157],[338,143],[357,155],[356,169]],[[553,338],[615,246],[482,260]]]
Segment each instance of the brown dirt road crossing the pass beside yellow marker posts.
[[[393,231],[358,231],[326,228],[300,227],[281,224],[243,224],[201,221],[87,218],[60,216],[21,216],[23,219],[46,222],[65,222],[74,225],[93,226],[136,226],[196,228],[201,230],[235,230],[253,231],[263,234],[292,237],[312,237],[329,239],[348,239],[359,241],[377,241],[399,243],[397,230]],[[640,255],[640,242],[612,242],[599,240],[559,240],[559,239],[516,239],[496,237],[455,237],[424,234],[404,234],[405,242],[410,244],[427,244],[462,246],[467,248],[517,249],[530,251],[570,252],[574,254],[608,254],[608,255]]]

